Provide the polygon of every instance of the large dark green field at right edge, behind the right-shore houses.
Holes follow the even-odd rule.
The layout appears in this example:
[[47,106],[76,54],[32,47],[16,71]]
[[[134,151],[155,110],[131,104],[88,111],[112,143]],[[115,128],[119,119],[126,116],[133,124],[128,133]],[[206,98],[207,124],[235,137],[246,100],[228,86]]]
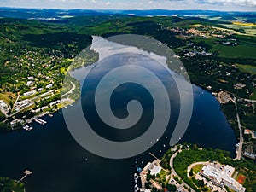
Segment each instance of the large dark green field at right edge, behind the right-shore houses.
[[256,48],[245,45],[225,46],[218,44],[211,49],[211,52],[213,51],[218,51],[219,56],[224,58],[256,59]]

